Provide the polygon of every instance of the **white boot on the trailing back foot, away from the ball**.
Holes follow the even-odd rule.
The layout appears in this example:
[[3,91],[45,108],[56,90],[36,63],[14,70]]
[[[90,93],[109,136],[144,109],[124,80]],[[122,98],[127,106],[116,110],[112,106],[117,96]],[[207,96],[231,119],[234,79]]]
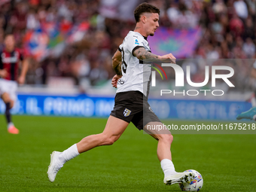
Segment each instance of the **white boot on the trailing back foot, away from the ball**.
[[47,174],[51,182],[55,180],[57,172],[63,166],[59,162],[59,154],[61,154],[61,152],[58,152],[58,151],[53,151],[53,153],[50,154],[50,166],[48,166]]

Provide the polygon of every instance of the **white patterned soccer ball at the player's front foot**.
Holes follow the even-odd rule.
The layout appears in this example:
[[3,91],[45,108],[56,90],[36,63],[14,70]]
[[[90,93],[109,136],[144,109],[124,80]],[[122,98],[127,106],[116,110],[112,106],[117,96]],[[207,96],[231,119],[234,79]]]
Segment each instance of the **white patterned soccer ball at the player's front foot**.
[[179,187],[181,188],[181,190],[183,190],[183,191],[198,191],[198,190],[202,189],[203,177],[200,174],[200,172],[197,172],[196,170],[193,170],[193,169],[188,169],[184,172],[194,172],[193,175],[196,175],[196,176],[190,181],[190,183],[179,184]]

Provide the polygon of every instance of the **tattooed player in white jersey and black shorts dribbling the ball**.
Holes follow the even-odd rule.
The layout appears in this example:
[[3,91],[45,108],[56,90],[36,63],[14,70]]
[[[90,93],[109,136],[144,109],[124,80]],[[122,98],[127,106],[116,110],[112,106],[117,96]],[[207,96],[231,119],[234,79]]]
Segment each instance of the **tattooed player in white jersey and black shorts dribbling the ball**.
[[64,163],[77,157],[78,154],[101,145],[112,145],[119,139],[130,122],[133,122],[139,130],[145,130],[157,139],[157,157],[164,172],[163,182],[165,184],[189,182],[194,177],[191,173],[175,172],[170,151],[173,137],[169,130],[164,130],[160,134],[157,130],[146,129],[147,125],[163,125],[163,123],[148,105],[151,68],[143,65],[142,60],[175,62],[172,53],[164,56],[151,53],[147,37],[153,36],[157,30],[159,14],[159,9],[148,3],[142,3],[134,11],[136,28],[126,35],[123,44],[120,44],[112,58],[113,68],[117,73],[112,79],[112,86],[117,87],[117,94],[114,99],[114,109],[108,117],[105,130],[102,133],[85,137],[65,151],[53,151],[47,171],[50,181],[55,180],[56,173]]

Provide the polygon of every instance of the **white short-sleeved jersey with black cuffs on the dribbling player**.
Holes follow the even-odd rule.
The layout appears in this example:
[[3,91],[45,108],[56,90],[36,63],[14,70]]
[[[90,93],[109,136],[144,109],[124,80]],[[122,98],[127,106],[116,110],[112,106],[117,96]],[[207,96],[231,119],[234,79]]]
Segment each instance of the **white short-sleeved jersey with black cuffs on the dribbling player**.
[[145,64],[136,56],[134,50],[144,47],[151,52],[148,41],[139,32],[130,31],[120,44],[122,53],[122,75],[117,82],[117,93],[139,90],[148,97],[151,81],[151,64]]

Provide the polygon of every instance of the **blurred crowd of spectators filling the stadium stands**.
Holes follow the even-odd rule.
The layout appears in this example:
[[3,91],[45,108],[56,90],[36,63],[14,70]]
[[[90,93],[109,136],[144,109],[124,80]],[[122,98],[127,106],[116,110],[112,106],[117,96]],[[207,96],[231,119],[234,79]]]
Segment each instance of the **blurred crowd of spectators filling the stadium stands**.
[[[134,29],[133,10],[142,2],[160,8],[160,26],[203,28],[188,58],[256,58],[256,0],[1,0],[0,50],[5,33],[13,33],[17,47],[23,49],[26,33],[44,23],[59,23],[65,30],[87,22],[90,27],[78,41],[56,47],[43,59],[30,56],[26,82],[47,84],[50,77],[70,77],[77,85],[100,85],[114,75],[111,56]],[[241,65],[235,67],[245,68],[248,76],[249,65]]]

